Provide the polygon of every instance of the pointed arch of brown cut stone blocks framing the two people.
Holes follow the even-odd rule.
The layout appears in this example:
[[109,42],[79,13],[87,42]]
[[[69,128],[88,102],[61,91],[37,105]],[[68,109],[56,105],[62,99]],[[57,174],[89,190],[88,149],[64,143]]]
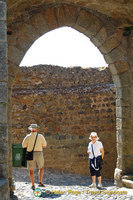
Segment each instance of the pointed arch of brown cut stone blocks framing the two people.
[[[17,68],[25,52],[42,34],[62,26],[70,26],[90,38],[109,64],[114,83],[117,87],[117,166],[116,184],[122,185],[122,175],[133,173],[132,140],[132,76],[127,50],[131,43],[123,36],[112,18],[95,13],[79,6],[60,4],[50,5],[35,11],[24,21],[8,24],[8,64],[9,64],[9,140],[11,141],[11,91]],[[11,149],[11,143],[10,149]],[[11,157],[11,151],[10,155]],[[10,165],[10,184],[12,168]]]

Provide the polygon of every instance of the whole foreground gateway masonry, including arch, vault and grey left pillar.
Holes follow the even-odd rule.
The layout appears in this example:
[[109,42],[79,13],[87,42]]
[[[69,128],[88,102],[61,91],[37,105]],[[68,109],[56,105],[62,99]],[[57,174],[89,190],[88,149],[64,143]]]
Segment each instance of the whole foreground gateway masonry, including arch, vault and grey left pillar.
[[133,175],[133,2],[0,0],[1,199],[8,199],[8,182],[12,188],[11,92],[18,65],[38,37],[62,26],[87,35],[109,65],[117,87],[116,184],[122,186],[123,176]]

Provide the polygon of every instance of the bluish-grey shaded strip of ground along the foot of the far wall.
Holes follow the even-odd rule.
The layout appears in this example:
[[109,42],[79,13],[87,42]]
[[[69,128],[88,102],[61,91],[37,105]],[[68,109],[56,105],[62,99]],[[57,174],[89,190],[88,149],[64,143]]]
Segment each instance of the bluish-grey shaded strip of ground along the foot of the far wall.
[[[88,172],[89,174],[89,172]],[[30,183],[29,172],[26,168],[14,168],[13,176],[15,182]],[[38,183],[38,170],[35,170],[35,183]],[[113,180],[103,179],[103,185],[113,186]],[[79,174],[72,174],[70,172],[64,173],[59,171],[45,170],[43,183],[54,186],[89,186],[91,184],[91,177]]]

